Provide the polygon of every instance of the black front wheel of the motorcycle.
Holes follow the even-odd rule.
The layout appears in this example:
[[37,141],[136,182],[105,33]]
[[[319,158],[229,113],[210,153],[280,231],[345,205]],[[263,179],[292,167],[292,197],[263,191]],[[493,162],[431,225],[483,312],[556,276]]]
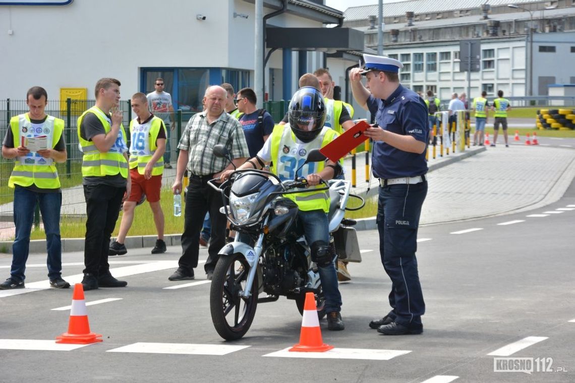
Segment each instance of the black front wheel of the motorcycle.
[[240,339],[250,329],[258,305],[258,274],[251,295],[240,296],[246,289],[250,265],[241,254],[221,256],[214,269],[210,288],[210,312],[216,331],[226,341]]

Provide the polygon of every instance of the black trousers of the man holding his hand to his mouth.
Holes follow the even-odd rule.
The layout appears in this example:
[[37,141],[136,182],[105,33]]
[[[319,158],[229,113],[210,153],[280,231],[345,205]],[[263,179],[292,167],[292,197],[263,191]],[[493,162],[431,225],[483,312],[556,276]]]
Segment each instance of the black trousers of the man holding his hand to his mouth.
[[84,273],[99,274],[110,270],[108,249],[116,226],[126,188],[109,185],[84,185],[86,198],[86,241],[84,242]]

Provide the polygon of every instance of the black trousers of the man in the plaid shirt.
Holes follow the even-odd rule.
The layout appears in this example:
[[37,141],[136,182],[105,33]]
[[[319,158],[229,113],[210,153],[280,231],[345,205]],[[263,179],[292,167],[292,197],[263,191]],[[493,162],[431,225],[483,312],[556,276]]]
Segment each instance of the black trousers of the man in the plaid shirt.
[[187,187],[186,208],[184,211],[184,225],[182,233],[182,256],[178,264],[186,270],[195,269],[198,266],[200,254],[200,231],[204,226],[206,212],[210,213],[212,233],[210,246],[208,247],[208,260],[204,265],[207,272],[213,272],[219,258],[218,252],[225,245],[226,218],[221,214],[220,207],[224,206],[221,194],[215,191],[208,181],[211,176],[190,176],[190,184]]

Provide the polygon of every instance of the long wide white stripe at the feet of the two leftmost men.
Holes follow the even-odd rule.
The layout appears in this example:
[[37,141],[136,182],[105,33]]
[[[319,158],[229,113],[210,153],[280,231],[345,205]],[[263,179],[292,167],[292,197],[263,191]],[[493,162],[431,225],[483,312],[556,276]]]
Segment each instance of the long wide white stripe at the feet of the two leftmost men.
[[[200,261],[202,263],[205,261]],[[45,265],[44,265],[45,266]],[[120,268],[110,269],[112,275],[116,278],[127,277],[136,274],[150,273],[166,269],[176,269],[178,268],[178,261],[155,261],[146,264],[137,264],[132,266],[124,266]],[[68,281],[70,284],[81,283],[84,274],[74,274],[71,276],[63,276],[64,280]],[[12,290],[0,290],[0,298],[20,295],[25,293],[30,293],[34,291],[47,290],[50,288],[50,283],[48,280],[43,280],[39,282],[26,283],[26,288],[24,289],[12,289]]]

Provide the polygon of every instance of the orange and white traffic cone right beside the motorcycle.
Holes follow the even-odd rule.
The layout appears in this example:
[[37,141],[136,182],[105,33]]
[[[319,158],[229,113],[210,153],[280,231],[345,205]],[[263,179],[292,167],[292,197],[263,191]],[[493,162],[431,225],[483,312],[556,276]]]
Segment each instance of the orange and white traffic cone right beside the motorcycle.
[[313,293],[305,293],[304,317],[301,319],[300,343],[289,351],[323,353],[333,349],[321,340],[320,321],[317,318],[316,298]]

